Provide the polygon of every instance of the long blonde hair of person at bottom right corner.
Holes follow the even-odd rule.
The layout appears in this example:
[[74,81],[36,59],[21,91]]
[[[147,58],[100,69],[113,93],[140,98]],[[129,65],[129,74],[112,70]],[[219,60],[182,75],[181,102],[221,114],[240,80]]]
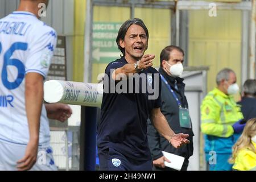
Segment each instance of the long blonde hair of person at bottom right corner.
[[240,138],[237,140],[237,142],[233,146],[233,154],[232,158],[229,159],[229,163],[234,163],[236,160],[238,152],[242,148],[248,148],[251,151],[254,151],[256,153],[256,149],[251,143],[251,137],[254,137],[256,135],[256,118],[250,119],[246,122],[245,128],[243,129],[243,133],[240,136]]

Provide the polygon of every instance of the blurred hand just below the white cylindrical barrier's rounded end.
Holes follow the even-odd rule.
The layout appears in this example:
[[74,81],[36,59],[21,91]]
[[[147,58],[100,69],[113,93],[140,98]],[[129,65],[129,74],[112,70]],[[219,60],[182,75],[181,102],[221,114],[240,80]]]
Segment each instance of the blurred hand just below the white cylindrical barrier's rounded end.
[[45,104],[47,117],[49,119],[56,119],[60,122],[66,121],[69,117],[71,117],[72,109],[67,104]]

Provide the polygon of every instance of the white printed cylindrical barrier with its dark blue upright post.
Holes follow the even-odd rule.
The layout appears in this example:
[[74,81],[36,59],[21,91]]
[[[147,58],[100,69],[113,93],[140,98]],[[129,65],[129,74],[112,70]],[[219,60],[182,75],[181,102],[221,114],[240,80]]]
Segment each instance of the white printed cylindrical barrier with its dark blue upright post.
[[48,103],[81,105],[80,170],[95,170],[96,107],[101,106],[103,84],[50,80],[44,83],[44,100]]

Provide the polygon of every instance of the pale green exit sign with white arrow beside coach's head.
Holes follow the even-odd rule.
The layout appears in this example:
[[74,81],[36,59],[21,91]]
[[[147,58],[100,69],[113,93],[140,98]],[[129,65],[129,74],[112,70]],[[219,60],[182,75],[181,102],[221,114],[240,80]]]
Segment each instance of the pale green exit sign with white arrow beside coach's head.
[[94,22],[92,58],[93,63],[110,63],[120,57],[121,52],[115,39],[122,23]]

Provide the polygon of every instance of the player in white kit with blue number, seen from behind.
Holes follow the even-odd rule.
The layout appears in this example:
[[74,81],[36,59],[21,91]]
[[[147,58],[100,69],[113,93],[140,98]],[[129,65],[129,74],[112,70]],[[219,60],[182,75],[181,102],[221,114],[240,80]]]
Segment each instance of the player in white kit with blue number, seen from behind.
[[39,3],[48,1],[20,0],[0,19],[0,170],[56,170],[47,111],[60,121],[72,113],[62,104],[43,105],[57,35],[38,19]]

